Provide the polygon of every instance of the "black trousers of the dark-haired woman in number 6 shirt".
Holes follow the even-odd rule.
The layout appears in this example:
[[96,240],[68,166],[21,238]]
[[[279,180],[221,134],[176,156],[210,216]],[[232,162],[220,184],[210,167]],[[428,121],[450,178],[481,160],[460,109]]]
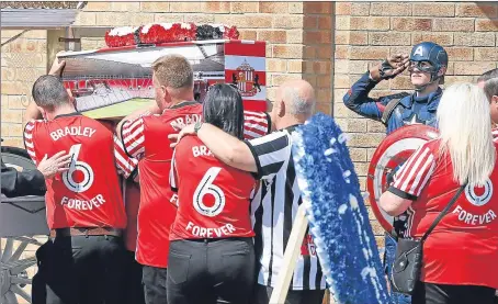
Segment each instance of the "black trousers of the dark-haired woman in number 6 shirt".
[[171,241],[168,304],[249,304],[253,285],[252,238]]

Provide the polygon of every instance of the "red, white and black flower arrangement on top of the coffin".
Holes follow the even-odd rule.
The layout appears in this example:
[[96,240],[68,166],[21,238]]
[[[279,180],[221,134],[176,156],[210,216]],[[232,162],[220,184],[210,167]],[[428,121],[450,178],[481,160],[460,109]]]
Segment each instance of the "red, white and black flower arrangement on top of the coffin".
[[224,24],[194,23],[151,23],[138,27],[115,27],[105,33],[105,43],[109,47],[120,47],[137,44],[160,44],[184,41],[204,40],[238,40],[236,26]]

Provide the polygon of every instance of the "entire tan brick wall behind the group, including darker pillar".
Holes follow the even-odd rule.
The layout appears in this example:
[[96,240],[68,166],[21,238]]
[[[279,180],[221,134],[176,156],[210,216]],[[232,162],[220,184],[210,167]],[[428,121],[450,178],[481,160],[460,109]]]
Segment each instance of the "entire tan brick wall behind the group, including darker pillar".
[[[446,83],[474,81],[497,67],[496,2],[89,2],[77,25],[149,22],[237,25],[241,38],[267,41],[270,100],[275,86],[304,78],[315,86],[317,109],[351,134],[351,156],[364,190],[369,161],[384,126],[346,109],[342,97],[366,69],[421,41],[443,45],[450,56]],[[2,43],[20,31],[1,31]],[[1,49],[1,133],[22,146],[22,116],[31,86],[46,72],[46,31],[32,31]],[[86,38],[82,49],[104,46]],[[381,82],[372,95],[411,90],[408,75]],[[374,219],[371,213],[371,219]],[[377,236],[382,228],[372,221]],[[382,238],[377,237],[382,245]]]

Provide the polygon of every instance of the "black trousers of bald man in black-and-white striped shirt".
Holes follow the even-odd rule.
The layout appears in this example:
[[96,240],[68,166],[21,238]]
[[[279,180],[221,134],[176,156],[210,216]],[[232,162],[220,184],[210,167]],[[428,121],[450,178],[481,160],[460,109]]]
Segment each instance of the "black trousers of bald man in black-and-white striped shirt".
[[[268,304],[273,289],[256,284],[251,304]],[[285,303],[282,304],[321,304],[325,290],[290,290]]]

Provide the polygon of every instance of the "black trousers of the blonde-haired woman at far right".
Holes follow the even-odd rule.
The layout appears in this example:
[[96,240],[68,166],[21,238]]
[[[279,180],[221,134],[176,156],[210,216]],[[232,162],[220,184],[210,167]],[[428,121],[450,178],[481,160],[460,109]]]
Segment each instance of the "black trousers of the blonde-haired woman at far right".
[[475,285],[444,285],[418,282],[412,304],[494,304],[495,289]]

